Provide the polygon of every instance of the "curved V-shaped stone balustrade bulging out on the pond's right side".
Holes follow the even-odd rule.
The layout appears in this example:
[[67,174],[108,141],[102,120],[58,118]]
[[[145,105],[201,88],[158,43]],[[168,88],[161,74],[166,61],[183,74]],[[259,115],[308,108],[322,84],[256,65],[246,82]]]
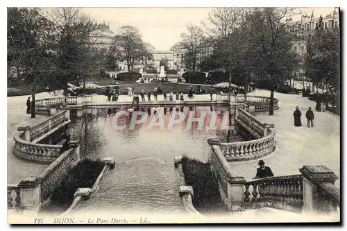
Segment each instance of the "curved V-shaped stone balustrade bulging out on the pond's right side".
[[275,150],[275,130],[272,124],[261,123],[243,109],[237,109],[236,121],[255,139],[244,142],[219,142],[218,145],[226,160],[229,162],[254,160],[269,155]]

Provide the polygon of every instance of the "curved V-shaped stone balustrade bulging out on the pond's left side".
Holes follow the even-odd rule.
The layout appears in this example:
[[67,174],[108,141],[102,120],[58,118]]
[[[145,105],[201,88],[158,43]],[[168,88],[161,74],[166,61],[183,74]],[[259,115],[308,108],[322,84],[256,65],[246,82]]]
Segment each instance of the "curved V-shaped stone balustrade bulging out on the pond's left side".
[[15,148],[13,153],[24,160],[51,163],[59,156],[62,145],[37,144],[47,135],[70,123],[69,111],[55,114],[36,126],[18,128],[15,134]]

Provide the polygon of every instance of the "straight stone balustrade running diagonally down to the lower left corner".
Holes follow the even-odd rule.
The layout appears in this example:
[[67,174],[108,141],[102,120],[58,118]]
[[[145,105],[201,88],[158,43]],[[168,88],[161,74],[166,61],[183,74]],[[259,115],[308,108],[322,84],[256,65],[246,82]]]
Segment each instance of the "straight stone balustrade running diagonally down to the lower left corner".
[[38,212],[42,206],[49,204],[53,191],[80,160],[79,142],[71,141],[70,149],[57,157],[39,176],[25,178],[18,185],[8,185],[8,209]]

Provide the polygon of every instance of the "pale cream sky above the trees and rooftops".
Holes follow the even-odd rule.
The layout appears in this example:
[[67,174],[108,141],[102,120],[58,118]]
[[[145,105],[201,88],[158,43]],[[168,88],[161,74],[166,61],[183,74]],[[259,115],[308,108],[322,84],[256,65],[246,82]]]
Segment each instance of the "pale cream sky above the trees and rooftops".
[[[200,26],[207,19],[212,8],[82,8],[82,12],[96,19],[98,23],[110,24],[110,30],[117,33],[120,26],[139,28],[144,42],[149,42],[159,51],[168,51],[180,41],[187,24]],[[323,17],[334,8],[299,8],[303,13]],[[300,19],[294,15],[292,19]]]

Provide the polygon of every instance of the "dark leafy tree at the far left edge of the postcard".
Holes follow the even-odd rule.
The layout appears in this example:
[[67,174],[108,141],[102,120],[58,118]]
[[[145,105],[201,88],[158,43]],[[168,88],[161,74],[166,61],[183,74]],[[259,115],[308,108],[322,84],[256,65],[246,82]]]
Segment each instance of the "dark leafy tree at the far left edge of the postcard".
[[37,84],[46,84],[55,60],[52,26],[38,8],[8,8],[8,69],[15,69],[17,73],[8,79],[12,82],[15,78],[17,83],[31,85],[32,118],[35,118]]

